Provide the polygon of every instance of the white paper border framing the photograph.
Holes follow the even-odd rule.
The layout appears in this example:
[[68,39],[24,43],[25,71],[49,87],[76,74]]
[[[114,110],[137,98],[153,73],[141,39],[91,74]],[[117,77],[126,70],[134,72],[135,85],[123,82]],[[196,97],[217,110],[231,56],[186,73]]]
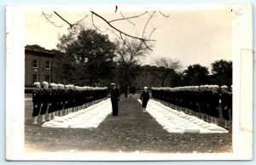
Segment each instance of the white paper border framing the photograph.
[[[115,4],[114,4],[115,5]],[[27,11],[108,10],[111,5],[9,5],[6,9],[6,159],[61,161],[252,160],[253,159],[253,7],[236,4],[121,4],[123,10],[231,10],[233,58],[233,153],[24,152],[24,72]],[[111,6],[111,8],[109,8]],[[72,9],[72,10],[71,10]],[[15,102],[14,102],[15,100]],[[63,158],[65,157],[65,158]]]

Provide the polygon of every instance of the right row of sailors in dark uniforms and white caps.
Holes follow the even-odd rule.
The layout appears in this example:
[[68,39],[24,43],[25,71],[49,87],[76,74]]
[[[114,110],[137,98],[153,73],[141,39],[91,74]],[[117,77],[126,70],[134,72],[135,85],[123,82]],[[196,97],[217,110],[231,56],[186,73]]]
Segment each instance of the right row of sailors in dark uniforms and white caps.
[[225,121],[232,117],[232,92],[227,90],[226,85],[152,88],[152,97],[172,109],[218,124],[220,114]]

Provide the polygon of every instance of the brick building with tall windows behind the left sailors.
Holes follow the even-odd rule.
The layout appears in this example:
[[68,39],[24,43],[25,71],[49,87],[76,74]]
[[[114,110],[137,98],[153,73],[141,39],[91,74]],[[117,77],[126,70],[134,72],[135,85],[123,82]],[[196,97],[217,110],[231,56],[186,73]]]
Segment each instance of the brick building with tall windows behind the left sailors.
[[48,50],[38,45],[25,47],[25,87],[32,87],[34,82],[58,82],[53,70],[53,61],[57,51]]

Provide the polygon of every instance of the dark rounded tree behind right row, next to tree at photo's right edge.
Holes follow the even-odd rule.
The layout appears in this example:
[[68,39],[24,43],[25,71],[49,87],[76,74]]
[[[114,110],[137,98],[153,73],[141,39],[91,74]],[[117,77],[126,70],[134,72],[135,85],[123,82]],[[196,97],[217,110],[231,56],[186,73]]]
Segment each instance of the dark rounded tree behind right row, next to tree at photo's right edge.
[[199,64],[189,65],[183,73],[184,85],[203,85],[209,83],[209,71],[205,66]]

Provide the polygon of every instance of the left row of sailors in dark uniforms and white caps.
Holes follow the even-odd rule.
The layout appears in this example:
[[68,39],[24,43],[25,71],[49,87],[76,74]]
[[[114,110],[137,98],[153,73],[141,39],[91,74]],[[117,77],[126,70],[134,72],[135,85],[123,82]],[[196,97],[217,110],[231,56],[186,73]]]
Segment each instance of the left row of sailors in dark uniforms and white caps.
[[[65,116],[73,111],[79,111],[93,105],[108,95],[108,88],[79,87],[73,84],[61,83],[34,83],[36,88],[32,91],[32,124],[53,120],[56,116]],[[47,115],[47,117],[46,117]]]

